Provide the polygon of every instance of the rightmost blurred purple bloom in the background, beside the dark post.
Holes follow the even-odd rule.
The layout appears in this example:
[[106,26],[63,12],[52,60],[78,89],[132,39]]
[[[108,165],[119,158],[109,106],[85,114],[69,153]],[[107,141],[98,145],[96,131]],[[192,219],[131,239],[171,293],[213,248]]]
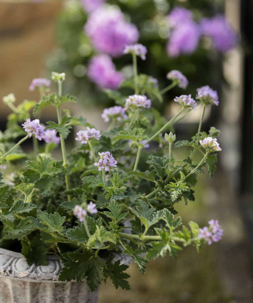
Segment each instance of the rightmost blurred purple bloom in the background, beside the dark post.
[[213,18],[203,18],[200,22],[202,33],[211,38],[214,48],[220,52],[227,52],[233,48],[238,37],[224,15]]

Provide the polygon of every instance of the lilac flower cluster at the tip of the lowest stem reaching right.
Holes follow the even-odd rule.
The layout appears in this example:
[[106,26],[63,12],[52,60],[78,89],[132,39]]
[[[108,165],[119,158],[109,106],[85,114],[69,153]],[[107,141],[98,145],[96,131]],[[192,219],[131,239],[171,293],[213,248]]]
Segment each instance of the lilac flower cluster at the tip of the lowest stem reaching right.
[[213,242],[218,242],[223,236],[223,229],[219,225],[218,220],[208,221],[209,228],[207,226],[200,228],[198,238],[204,238],[207,241],[208,245],[211,245]]

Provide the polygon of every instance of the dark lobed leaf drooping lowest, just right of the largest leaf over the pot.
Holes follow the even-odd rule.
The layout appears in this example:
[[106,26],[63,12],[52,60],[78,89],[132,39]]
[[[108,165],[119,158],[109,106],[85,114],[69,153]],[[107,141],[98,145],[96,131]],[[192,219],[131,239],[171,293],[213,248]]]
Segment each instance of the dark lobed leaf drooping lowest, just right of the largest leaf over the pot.
[[124,272],[128,268],[128,265],[120,264],[120,260],[117,260],[114,264],[108,260],[106,265],[104,271],[111,278],[115,288],[118,289],[121,287],[122,289],[130,290],[130,285],[126,281],[126,279],[130,278],[130,275]]

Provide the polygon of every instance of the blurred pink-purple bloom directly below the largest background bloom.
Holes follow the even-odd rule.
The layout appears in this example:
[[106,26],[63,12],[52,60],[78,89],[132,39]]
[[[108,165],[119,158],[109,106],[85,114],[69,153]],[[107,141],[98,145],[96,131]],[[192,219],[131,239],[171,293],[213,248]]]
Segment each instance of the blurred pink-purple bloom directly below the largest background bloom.
[[101,89],[117,89],[123,80],[123,75],[116,71],[111,57],[106,54],[91,59],[87,75]]

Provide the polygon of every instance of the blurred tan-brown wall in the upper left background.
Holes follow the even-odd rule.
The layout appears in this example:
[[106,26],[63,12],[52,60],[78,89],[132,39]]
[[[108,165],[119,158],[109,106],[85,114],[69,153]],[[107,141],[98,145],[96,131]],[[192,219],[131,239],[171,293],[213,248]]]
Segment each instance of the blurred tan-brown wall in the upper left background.
[[[17,102],[38,99],[33,78],[45,76],[45,57],[55,47],[55,19],[61,2],[0,0],[0,99],[13,92]],[[1,101],[0,100],[0,101]],[[0,102],[1,126],[9,108]]]

